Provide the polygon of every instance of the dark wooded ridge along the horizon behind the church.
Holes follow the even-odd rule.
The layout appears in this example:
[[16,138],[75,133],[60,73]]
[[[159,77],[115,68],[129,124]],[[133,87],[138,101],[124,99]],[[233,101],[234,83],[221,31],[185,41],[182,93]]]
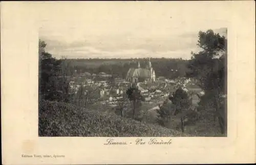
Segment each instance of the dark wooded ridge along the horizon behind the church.
[[[148,58],[130,58],[130,59],[66,59],[71,69],[71,75],[75,70],[77,74],[89,72],[90,74],[98,74],[104,72],[106,74],[113,74],[120,78],[125,78],[129,68],[137,67],[138,62],[142,68],[145,68],[148,63]],[[181,58],[150,58],[156,76],[163,76],[166,78],[184,77],[187,70],[189,60]]]

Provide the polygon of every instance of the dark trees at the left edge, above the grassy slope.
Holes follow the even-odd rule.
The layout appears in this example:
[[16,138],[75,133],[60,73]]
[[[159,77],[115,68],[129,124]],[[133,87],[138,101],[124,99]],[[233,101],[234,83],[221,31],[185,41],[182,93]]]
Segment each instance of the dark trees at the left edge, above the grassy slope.
[[71,70],[67,60],[57,60],[45,51],[47,44],[39,39],[39,100],[68,102],[69,79]]

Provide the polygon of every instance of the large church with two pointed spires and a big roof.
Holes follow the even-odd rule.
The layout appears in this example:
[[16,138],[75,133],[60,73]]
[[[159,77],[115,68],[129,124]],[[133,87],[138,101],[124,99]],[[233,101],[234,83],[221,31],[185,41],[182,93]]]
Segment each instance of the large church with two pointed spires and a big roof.
[[148,64],[146,65],[146,68],[141,68],[140,62],[138,62],[137,68],[130,68],[127,72],[126,80],[132,83],[144,81],[154,82],[156,80],[156,74],[150,59],[148,59]]

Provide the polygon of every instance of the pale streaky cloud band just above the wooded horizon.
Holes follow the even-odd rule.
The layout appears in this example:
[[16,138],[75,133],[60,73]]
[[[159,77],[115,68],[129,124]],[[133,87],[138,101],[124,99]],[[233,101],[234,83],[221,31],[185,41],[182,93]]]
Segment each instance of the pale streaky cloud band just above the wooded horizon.
[[[226,28],[214,30],[221,35]],[[81,37],[72,42],[63,39],[40,37],[47,43],[46,50],[60,58],[136,58],[165,57],[189,59],[190,52],[197,52],[198,31],[185,32],[170,36],[135,37],[125,35],[104,35]],[[54,37],[53,37],[54,38]]]

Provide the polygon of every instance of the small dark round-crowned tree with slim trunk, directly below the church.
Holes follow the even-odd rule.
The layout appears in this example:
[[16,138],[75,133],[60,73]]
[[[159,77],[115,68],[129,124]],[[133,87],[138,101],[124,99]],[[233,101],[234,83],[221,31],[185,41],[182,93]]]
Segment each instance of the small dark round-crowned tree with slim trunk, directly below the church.
[[126,95],[131,102],[133,102],[133,119],[135,119],[135,109],[141,105],[141,101],[144,101],[140,90],[136,86],[131,86],[126,90]]

